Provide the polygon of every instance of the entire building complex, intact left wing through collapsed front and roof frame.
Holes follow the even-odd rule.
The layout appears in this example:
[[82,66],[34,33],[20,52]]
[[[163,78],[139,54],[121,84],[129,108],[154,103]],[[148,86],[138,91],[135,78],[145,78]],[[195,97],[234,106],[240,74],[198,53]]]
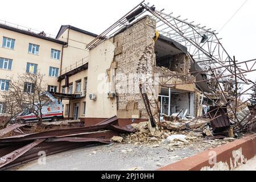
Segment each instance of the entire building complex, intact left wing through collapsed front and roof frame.
[[[27,46],[35,47],[28,46],[34,50],[29,55],[33,61],[24,58],[28,62],[18,66],[18,58],[11,57],[9,49],[0,49],[0,57],[6,57],[1,60],[4,69],[13,63],[11,72],[1,72],[1,90],[7,91],[7,78],[16,72],[36,73],[41,69],[48,75],[48,91],[63,101],[64,118],[80,119],[85,125],[113,115],[121,125],[147,121],[148,117],[170,119],[173,114],[192,119],[216,105],[228,105],[235,115],[232,107],[237,105],[229,102],[238,94],[226,96],[228,88],[222,90],[220,84],[226,77],[233,77],[231,84],[234,77],[248,84],[243,73],[254,71],[239,69],[238,64],[247,61],[236,65],[210,28],[143,2],[100,35],[69,25],[61,26],[55,39],[6,25],[1,26],[1,34],[10,42],[10,49],[15,44],[15,52],[24,53],[19,48],[26,45],[18,44],[21,34],[28,36],[23,39],[31,39]],[[36,59],[33,54],[38,55]],[[41,65],[42,60],[47,64]],[[26,65],[27,70],[17,69]],[[233,85],[237,90],[237,84]],[[0,112],[1,108],[0,102]]]

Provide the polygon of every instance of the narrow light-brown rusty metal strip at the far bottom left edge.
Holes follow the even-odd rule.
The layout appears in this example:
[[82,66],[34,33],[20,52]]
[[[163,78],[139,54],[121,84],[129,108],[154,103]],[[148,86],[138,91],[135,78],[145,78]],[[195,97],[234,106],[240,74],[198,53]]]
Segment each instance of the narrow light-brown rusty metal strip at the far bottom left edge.
[[35,142],[32,142],[30,144],[27,144],[26,146],[19,148],[18,150],[15,150],[11,152],[10,154],[7,154],[5,156],[2,156],[0,158],[0,168],[6,166],[7,164],[13,162],[15,159],[19,158],[19,156],[22,156],[27,151],[31,150],[31,148],[37,146],[39,143],[42,143],[45,139],[36,140]]

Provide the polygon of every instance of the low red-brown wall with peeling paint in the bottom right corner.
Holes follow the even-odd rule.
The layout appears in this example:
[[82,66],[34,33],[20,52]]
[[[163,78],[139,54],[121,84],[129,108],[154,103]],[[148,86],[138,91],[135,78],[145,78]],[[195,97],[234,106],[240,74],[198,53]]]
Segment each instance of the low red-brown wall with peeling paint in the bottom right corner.
[[162,167],[157,171],[229,171],[254,158],[255,155],[256,137],[245,137]]

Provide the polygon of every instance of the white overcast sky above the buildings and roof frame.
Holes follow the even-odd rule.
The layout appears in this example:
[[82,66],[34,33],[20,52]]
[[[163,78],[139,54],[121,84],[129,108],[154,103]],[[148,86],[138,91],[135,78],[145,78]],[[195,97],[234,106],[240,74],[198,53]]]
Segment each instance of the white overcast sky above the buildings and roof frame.
[[[35,30],[56,35],[61,24],[100,34],[125,15],[140,0],[44,0],[1,1],[1,20],[20,24]],[[245,0],[149,0],[156,9],[173,12],[182,19],[201,23],[217,32],[240,8]],[[247,0],[245,5],[220,31],[218,35],[230,56],[245,61],[256,58],[256,1]],[[254,78],[253,78],[254,77]],[[250,77],[256,79],[254,74]]]

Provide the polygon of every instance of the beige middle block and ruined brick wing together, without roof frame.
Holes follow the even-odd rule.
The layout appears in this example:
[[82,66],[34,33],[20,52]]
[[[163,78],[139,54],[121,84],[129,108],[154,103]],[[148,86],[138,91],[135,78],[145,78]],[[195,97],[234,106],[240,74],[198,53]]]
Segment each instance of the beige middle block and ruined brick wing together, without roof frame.
[[[151,16],[143,16],[96,48],[86,50],[84,45],[96,36],[72,26],[61,26],[56,36],[63,48],[59,48],[59,77],[51,78],[55,89],[49,91],[63,100],[65,118],[88,121],[86,125],[113,115],[123,125],[146,121],[140,83],[146,83],[143,86],[147,88],[154,117],[200,114],[196,85],[185,84],[195,80],[189,75],[191,60],[187,48],[158,35]],[[174,76],[165,77],[170,74]],[[165,86],[168,84],[176,85]]]

